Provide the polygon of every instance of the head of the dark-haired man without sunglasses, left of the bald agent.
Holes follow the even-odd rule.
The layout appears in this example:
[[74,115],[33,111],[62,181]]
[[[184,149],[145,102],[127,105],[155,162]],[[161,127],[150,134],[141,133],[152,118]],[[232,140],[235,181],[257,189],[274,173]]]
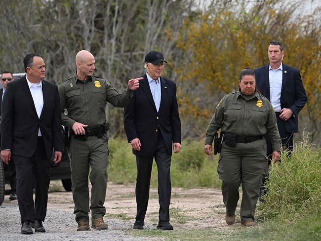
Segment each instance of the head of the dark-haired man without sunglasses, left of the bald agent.
[[28,79],[40,81],[45,77],[46,65],[39,54],[29,53],[23,59]]

